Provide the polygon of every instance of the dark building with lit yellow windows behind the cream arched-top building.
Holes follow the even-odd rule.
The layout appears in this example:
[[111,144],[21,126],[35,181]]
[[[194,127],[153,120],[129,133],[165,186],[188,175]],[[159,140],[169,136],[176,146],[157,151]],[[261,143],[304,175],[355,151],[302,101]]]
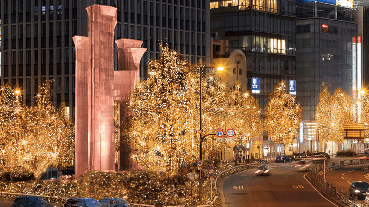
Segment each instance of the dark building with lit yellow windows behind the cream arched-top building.
[[229,41],[229,52],[240,49],[247,64],[247,89],[262,109],[279,82],[296,80],[296,1],[211,0],[211,32]]

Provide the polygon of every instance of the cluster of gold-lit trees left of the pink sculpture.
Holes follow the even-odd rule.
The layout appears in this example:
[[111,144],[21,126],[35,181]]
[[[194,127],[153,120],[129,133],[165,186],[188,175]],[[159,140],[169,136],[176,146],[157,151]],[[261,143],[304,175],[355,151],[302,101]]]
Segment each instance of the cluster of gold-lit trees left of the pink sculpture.
[[72,166],[74,123],[63,106],[54,108],[50,82],[39,89],[33,107],[22,106],[22,98],[10,86],[2,86],[1,91],[1,100],[10,100],[1,101],[0,106],[1,167],[13,170],[21,166],[38,176],[48,166]]

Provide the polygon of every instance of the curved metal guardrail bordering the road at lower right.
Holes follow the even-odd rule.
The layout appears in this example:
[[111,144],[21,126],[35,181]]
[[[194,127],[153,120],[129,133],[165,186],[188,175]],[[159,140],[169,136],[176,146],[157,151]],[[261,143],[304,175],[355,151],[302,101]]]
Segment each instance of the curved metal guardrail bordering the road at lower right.
[[[369,163],[369,159],[352,159],[346,161],[337,162],[326,162],[325,169],[333,169],[337,167],[344,167],[349,165],[359,165]],[[335,202],[345,206],[345,207],[369,207],[369,205],[364,201],[361,205],[358,205],[356,197],[350,197],[348,194],[343,193],[343,191],[337,191],[337,188],[328,183],[321,175],[324,172],[324,164],[316,166],[312,171],[307,173],[307,177],[314,182],[322,193],[332,198]]]

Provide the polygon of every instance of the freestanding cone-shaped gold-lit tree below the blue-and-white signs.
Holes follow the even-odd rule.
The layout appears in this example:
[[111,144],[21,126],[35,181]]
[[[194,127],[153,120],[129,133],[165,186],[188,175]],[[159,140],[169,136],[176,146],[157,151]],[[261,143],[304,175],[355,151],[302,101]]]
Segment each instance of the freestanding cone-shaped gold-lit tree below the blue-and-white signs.
[[280,83],[269,95],[265,108],[265,127],[274,142],[292,144],[299,128],[302,106]]

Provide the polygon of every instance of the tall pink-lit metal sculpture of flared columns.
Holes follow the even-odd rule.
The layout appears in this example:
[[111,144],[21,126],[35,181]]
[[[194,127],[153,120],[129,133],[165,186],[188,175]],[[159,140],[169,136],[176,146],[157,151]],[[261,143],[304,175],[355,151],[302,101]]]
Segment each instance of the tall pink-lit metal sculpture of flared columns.
[[[129,97],[139,80],[139,63],[146,51],[146,48],[139,48],[142,41],[117,40],[119,70],[122,71],[114,71],[117,8],[92,5],[86,10],[88,37],[73,37],[76,47],[76,176],[91,170],[115,170],[114,100]],[[134,164],[131,166],[126,169],[133,169]]]

